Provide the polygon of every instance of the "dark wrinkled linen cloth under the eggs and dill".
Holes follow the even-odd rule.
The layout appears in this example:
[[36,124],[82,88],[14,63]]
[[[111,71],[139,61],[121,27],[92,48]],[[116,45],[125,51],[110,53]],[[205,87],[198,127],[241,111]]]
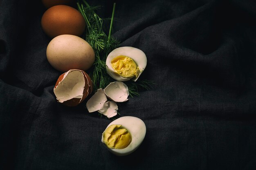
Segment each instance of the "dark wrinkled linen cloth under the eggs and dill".
[[[101,18],[113,2],[88,0]],[[44,11],[0,0],[1,170],[256,170],[254,0],[117,1],[113,35],[146,53],[140,79],[156,83],[118,104],[147,127],[125,157],[101,144],[111,119],[56,102]]]

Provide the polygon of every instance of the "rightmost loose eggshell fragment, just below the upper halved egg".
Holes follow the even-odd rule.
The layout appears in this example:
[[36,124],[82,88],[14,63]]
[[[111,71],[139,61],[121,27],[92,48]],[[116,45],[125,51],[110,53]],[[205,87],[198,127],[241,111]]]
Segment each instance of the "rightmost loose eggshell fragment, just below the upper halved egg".
[[115,102],[126,102],[129,96],[128,87],[120,81],[110,83],[104,88],[104,92],[108,98]]

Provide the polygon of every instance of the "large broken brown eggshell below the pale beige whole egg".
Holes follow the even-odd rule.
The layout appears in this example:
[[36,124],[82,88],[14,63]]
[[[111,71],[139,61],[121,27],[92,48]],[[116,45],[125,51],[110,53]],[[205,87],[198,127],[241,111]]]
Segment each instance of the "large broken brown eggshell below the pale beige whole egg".
[[71,69],[59,76],[54,94],[58,102],[66,106],[77,106],[92,93],[92,80],[85,71]]

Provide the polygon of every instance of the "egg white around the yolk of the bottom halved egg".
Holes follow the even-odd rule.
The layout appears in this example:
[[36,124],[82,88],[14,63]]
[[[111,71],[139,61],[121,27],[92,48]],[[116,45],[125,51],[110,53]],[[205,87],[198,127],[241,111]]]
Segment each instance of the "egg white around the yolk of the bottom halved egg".
[[141,119],[139,119],[137,117],[132,117],[132,116],[120,117],[120,118],[112,121],[107,126],[107,128],[112,124],[121,125],[120,128],[126,128],[128,130],[128,132],[130,132],[130,135],[132,137],[130,144],[126,148],[112,149],[112,148],[108,148],[104,144],[104,140],[103,140],[103,136],[102,136],[102,139],[101,139],[102,143],[106,146],[106,148],[108,148],[108,150],[110,152],[112,152],[113,154],[115,154],[117,156],[125,156],[125,155],[128,155],[128,154],[134,152],[140,146],[142,141],[144,140],[144,137],[146,135],[146,125]]

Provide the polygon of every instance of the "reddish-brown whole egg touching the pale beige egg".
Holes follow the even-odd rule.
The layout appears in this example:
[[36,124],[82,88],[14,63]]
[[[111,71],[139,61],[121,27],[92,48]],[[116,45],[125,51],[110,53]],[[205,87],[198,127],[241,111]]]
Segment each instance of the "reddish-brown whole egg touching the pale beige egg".
[[63,34],[81,36],[85,30],[82,14],[67,5],[56,5],[47,9],[41,24],[43,31],[51,38]]

